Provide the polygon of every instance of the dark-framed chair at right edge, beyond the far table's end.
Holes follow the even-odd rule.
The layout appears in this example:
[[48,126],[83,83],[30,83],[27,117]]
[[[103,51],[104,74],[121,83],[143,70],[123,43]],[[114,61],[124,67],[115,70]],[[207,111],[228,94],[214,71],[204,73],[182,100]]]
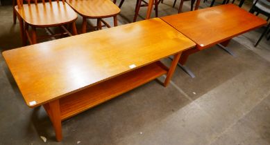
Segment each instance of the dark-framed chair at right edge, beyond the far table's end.
[[[251,10],[249,12],[253,13],[257,12],[256,15],[258,14],[264,14],[267,18],[267,21],[270,19],[270,1],[268,0],[254,0],[253,1],[253,6],[251,7]],[[262,35],[258,39],[258,41],[255,43],[255,47],[258,46],[260,41],[262,40],[262,37],[267,33],[267,30],[269,30],[270,23],[268,24],[267,28],[264,29],[264,32],[262,32]],[[269,39],[269,38],[267,38]]]

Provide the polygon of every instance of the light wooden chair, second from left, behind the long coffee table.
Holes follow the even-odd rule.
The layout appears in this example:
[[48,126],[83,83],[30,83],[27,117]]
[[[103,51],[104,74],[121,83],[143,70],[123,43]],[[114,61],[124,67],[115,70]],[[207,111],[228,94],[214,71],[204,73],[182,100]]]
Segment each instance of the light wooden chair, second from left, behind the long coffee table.
[[117,14],[120,9],[110,0],[67,0],[67,3],[83,17],[82,33],[87,30],[87,19],[97,19],[96,30],[101,30],[103,26],[110,28],[110,25],[103,20],[108,17],[113,17],[114,26],[117,26]]

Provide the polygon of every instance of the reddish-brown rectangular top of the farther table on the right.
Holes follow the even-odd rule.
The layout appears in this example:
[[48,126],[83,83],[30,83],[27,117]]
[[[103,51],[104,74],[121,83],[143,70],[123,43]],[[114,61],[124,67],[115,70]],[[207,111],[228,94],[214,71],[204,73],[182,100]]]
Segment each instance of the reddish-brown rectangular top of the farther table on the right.
[[203,49],[231,39],[267,21],[233,4],[215,6],[162,17]]

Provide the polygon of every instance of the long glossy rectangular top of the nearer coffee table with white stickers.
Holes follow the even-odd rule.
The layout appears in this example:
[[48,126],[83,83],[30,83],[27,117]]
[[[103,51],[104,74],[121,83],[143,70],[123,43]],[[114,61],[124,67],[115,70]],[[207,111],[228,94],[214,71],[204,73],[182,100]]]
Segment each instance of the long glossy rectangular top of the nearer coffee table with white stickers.
[[35,107],[194,46],[156,18],[7,50],[3,57],[26,104]]

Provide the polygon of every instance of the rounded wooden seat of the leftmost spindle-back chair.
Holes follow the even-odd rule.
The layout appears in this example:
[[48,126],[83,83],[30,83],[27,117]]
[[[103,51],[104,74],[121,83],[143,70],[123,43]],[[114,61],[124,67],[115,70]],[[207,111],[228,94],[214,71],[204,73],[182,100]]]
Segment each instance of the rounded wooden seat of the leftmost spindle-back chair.
[[65,23],[70,23],[77,19],[77,14],[67,4],[63,4],[62,1],[57,3],[53,1],[51,3],[31,3],[24,4],[22,8],[15,6],[15,10],[26,23],[35,27],[49,27],[60,26]]

